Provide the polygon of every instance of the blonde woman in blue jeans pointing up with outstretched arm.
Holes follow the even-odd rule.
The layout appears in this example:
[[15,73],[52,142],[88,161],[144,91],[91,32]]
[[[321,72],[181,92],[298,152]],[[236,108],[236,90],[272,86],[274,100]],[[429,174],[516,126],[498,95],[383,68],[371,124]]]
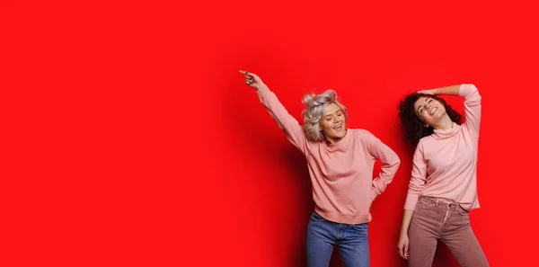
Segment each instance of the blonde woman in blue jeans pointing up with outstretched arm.
[[[315,204],[305,238],[307,266],[327,267],[333,246],[345,266],[369,266],[370,206],[392,182],[399,157],[366,129],[347,128],[347,109],[334,91],[305,95],[302,127],[259,76],[240,73],[287,139],[305,155]],[[383,166],[373,179],[376,160]]]

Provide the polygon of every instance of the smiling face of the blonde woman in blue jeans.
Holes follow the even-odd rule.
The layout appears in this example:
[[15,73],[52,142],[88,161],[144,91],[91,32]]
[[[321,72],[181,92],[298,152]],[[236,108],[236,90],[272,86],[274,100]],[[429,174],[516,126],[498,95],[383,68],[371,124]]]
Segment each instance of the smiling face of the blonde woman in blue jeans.
[[320,128],[330,143],[336,143],[346,136],[346,118],[339,106],[331,102],[324,108]]

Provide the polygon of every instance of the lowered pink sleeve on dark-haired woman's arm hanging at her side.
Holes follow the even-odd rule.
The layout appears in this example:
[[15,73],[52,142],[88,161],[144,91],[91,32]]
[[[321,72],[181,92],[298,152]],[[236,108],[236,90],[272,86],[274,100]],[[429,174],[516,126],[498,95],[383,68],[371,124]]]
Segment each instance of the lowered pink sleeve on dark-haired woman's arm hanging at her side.
[[420,141],[413,154],[411,179],[408,186],[406,202],[404,203],[404,209],[415,209],[415,206],[420,199],[420,192],[425,187],[425,183],[427,181],[427,163],[425,162],[424,153],[425,151],[423,149],[423,144]]

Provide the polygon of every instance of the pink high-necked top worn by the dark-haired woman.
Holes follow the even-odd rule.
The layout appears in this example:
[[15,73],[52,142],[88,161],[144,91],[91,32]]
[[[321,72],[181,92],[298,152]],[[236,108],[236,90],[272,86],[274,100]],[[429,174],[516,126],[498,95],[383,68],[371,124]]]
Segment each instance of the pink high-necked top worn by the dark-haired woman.
[[410,187],[404,209],[415,209],[420,196],[479,208],[476,186],[477,144],[481,121],[481,95],[475,85],[461,85],[465,122],[421,138],[413,156]]

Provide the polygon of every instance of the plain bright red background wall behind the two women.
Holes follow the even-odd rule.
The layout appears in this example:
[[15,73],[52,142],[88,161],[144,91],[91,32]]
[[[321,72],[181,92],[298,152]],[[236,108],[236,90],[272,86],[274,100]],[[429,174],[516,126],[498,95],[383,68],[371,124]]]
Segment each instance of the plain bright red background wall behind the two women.
[[[337,90],[349,127],[401,157],[373,206],[372,266],[406,266],[397,102],[477,85],[472,226],[491,266],[535,259],[529,4],[2,1],[0,22],[3,266],[303,266],[305,160],[238,69],[298,120],[304,93]],[[440,245],[434,266],[458,264]]]

